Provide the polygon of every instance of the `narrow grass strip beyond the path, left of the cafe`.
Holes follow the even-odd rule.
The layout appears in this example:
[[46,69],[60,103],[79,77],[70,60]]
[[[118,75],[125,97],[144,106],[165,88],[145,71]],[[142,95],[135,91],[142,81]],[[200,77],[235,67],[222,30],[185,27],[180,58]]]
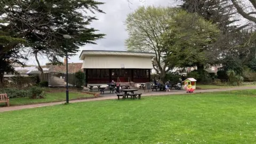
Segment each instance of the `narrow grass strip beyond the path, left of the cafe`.
[[[69,92],[69,99],[79,99],[79,98],[87,98],[93,97],[89,94],[83,94],[79,92]],[[34,103],[44,103],[44,102],[56,102],[56,101],[65,101],[66,100],[66,92],[55,92],[55,93],[46,93],[46,96],[43,99],[29,99],[25,98],[13,98],[10,99],[10,105],[29,105]],[[0,103],[0,106],[5,106],[5,103]]]

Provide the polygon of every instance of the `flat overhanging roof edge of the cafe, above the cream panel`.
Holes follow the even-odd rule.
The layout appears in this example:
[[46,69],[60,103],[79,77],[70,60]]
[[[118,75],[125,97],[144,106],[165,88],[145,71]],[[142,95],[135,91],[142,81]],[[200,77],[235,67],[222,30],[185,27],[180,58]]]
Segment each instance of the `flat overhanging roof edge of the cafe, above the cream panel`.
[[151,52],[130,52],[130,51],[95,51],[84,50],[81,52],[79,59],[84,60],[86,55],[124,55],[124,56],[137,56],[137,57],[155,57],[155,53]]

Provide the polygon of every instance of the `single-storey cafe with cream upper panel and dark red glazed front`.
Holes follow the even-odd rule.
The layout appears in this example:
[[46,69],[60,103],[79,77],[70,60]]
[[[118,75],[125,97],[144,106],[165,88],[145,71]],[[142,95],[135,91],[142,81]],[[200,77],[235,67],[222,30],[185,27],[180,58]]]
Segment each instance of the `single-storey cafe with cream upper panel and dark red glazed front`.
[[87,84],[150,82],[155,53],[84,50],[79,56]]

